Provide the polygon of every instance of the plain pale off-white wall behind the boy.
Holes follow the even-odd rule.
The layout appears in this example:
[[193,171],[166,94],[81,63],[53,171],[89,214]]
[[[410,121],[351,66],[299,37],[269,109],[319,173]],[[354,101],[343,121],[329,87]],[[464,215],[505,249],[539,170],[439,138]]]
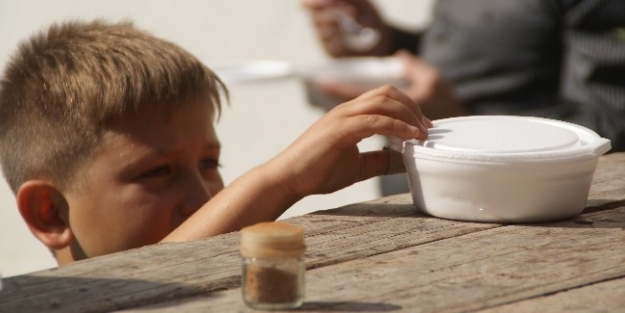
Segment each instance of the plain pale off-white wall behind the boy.
[[[433,1],[374,3],[396,24],[421,28],[429,22]],[[34,32],[57,21],[93,18],[131,20],[191,51],[209,67],[268,60],[297,69],[328,60],[299,0],[0,0],[0,69],[17,43]],[[216,126],[223,144],[221,172],[226,184],[282,151],[324,113],[307,102],[296,76],[233,82],[229,89],[230,105]],[[372,137],[360,148],[373,150],[383,145],[383,138]],[[308,197],[282,218],[380,196],[379,178],[371,179],[334,194]],[[54,266],[50,253],[23,223],[14,196],[2,180],[0,274],[13,276]]]

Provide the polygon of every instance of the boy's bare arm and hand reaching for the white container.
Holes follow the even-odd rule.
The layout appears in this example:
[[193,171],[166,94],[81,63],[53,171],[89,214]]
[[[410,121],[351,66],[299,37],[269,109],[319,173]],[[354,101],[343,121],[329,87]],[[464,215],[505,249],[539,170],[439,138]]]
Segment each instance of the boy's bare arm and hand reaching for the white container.
[[375,134],[424,139],[431,122],[394,87],[364,93],[329,111],[272,160],[245,173],[163,239],[186,241],[277,219],[305,196],[337,191],[386,173],[385,151],[360,153]]

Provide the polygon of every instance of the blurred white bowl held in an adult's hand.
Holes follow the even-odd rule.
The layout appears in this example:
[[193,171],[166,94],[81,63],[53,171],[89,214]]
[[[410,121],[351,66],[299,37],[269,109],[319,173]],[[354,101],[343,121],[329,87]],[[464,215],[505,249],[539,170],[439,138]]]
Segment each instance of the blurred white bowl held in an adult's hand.
[[346,101],[324,93],[317,87],[320,82],[348,83],[373,89],[386,84],[406,85],[404,69],[395,57],[349,57],[332,59],[324,64],[302,67],[299,76],[306,89],[310,104],[325,109]]

